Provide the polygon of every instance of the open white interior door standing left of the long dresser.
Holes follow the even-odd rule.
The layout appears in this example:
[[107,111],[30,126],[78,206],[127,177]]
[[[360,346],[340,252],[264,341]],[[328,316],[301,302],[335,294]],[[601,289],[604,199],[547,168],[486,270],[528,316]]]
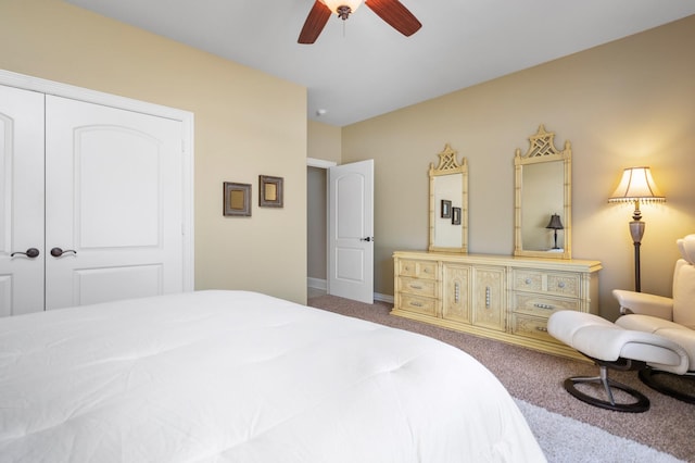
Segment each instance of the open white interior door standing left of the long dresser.
[[374,302],[374,160],[328,170],[328,293]]

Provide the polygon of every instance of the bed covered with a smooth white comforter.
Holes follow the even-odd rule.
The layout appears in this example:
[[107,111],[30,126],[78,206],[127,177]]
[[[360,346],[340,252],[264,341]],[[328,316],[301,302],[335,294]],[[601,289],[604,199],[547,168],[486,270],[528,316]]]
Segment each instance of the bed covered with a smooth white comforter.
[[541,462],[434,339],[249,291],[0,318],[3,462]]

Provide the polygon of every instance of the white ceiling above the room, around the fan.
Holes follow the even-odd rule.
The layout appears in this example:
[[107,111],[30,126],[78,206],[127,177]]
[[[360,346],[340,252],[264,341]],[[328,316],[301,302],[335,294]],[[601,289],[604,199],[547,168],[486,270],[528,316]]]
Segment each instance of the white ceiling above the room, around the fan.
[[362,5],[299,45],[314,0],[66,1],[305,86],[307,116],[337,126],[695,14],[691,0],[401,0],[422,23],[412,37]]

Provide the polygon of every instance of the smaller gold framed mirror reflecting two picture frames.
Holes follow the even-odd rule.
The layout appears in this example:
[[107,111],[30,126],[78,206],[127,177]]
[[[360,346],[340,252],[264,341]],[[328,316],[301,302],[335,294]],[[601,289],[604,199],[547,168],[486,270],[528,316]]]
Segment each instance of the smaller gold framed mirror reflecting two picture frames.
[[430,164],[430,251],[468,252],[468,162],[446,143]]

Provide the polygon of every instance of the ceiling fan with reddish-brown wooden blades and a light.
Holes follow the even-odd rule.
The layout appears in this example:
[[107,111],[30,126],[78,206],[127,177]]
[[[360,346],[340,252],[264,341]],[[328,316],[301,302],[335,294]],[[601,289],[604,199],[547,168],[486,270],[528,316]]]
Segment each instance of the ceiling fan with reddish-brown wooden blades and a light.
[[[406,37],[415,34],[422,24],[399,0],[364,0],[379,17]],[[354,13],[363,0],[315,0],[308,12],[304,27],[300,33],[299,43],[314,43],[331,14],[345,21]]]

